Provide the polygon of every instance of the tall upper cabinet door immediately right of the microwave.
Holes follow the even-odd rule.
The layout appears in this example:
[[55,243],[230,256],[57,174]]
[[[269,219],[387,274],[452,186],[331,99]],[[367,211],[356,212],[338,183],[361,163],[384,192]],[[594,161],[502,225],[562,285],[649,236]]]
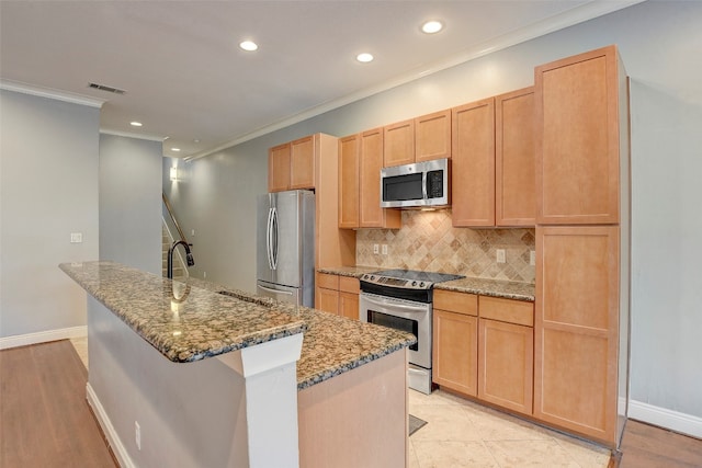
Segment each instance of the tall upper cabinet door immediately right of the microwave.
[[495,226],[495,99],[453,109],[453,226]]

